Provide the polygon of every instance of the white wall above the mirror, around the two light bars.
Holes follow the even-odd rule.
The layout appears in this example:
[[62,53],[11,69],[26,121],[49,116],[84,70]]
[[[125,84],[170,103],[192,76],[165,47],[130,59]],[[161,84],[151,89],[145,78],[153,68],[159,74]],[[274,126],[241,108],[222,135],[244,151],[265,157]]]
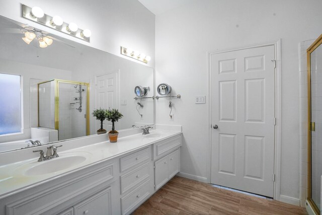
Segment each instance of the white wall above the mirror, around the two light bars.
[[[38,6],[50,16],[59,15],[66,23],[75,22],[81,29],[90,29],[91,43],[22,18],[20,4]],[[122,57],[120,46],[131,47],[150,55],[148,65],[154,67],[155,16],[138,1],[3,0],[0,3],[0,15]]]

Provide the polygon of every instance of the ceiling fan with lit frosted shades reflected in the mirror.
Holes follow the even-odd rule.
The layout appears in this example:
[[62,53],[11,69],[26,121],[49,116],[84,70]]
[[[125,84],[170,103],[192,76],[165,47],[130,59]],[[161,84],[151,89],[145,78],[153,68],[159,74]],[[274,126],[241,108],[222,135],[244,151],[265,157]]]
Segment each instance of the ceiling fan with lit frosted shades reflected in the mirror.
[[23,34],[24,37],[22,37],[22,39],[25,41],[25,43],[30,44],[32,41],[37,40],[39,47],[41,48],[46,48],[47,46],[51,45],[53,40],[74,48],[74,46],[69,45],[62,40],[48,36],[48,32],[34,28],[28,24],[21,24],[15,21],[14,23],[22,28],[0,28],[0,33]]

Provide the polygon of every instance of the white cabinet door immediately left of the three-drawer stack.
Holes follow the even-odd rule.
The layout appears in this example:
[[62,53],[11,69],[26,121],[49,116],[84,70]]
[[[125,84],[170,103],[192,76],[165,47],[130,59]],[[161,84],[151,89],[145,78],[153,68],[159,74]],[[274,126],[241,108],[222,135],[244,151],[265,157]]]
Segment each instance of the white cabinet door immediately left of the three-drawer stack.
[[74,214],[112,214],[111,210],[111,187],[85,199],[74,206]]

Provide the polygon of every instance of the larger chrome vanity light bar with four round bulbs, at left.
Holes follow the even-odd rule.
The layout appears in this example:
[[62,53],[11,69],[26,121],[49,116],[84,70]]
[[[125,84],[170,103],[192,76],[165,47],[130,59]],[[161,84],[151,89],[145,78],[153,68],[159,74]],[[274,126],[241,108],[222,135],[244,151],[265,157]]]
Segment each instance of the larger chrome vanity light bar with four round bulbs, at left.
[[65,23],[59,16],[51,17],[45,14],[39,7],[30,8],[23,4],[21,6],[23,18],[90,42],[92,33],[89,29],[82,30],[75,23]]

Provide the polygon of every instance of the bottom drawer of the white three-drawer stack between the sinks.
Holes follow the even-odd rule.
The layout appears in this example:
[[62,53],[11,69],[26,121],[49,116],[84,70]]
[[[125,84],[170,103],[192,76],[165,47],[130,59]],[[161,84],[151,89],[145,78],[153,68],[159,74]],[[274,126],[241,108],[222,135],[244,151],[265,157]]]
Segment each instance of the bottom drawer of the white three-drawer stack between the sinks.
[[141,184],[137,189],[121,198],[122,214],[127,214],[138,203],[149,195],[149,180]]

